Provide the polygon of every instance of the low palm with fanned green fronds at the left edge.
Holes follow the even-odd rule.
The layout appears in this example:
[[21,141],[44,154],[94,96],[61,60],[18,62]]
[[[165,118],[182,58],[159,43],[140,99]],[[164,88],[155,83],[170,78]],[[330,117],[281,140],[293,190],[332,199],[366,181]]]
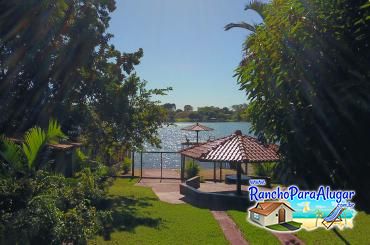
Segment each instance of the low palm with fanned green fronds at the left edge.
[[0,157],[16,170],[23,169],[24,165],[27,165],[29,170],[36,169],[38,167],[36,160],[44,147],[47,144],[56,143],[61,138],[66,138],[61,126],[57,121],[50,120],[47,131],[40,127],[33,127],[28,130],[24,135],[22,146],[1,136]]

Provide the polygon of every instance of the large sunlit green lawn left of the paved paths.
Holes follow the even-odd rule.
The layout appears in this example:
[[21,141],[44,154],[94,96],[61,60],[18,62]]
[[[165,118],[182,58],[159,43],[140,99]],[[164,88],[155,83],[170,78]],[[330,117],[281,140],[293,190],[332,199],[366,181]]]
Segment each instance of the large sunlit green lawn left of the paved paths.
[[228,244],[209,210],[161,202],[136,181],[115,180],[108,200],[111,228],[90,244]]

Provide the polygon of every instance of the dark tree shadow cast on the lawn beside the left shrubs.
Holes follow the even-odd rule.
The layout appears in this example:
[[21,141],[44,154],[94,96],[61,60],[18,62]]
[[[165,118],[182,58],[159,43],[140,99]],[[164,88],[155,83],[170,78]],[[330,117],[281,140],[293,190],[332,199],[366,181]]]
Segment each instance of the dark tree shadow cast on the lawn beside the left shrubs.
[[137,226],[158,228],[162,223],[161,218],[152,218],[139,212],[140,209],[152,206],[155,198],[141,197],[108,197],[104,201],[104,210],[112,211],[112,220],[105,222],[102,235],[104,240],[110,240],[114,231],[134,232]]

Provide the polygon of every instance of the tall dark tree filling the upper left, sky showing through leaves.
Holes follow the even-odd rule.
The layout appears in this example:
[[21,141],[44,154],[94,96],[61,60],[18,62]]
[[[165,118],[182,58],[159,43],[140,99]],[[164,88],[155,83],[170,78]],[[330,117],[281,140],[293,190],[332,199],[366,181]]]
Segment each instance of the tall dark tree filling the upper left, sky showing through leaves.
[[114,0],[0,1],[1,132],[22,134],[53,117],[95,146],[158,143],[163,111],[151,99],[165,90],[145,89],[134,74],[142,49],[109,44],[114,9]]

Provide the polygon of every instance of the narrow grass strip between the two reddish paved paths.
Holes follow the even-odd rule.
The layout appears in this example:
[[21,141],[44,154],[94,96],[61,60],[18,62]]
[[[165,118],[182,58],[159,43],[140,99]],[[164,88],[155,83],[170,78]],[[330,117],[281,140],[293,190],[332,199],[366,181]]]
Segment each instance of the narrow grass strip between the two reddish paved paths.
[[277,238],[272,235],[271,232],[250,224],[246,220],[246,212],[228,211],[227,213],[238,225],[245,240],[247,240],[249,244],[280,244]]

